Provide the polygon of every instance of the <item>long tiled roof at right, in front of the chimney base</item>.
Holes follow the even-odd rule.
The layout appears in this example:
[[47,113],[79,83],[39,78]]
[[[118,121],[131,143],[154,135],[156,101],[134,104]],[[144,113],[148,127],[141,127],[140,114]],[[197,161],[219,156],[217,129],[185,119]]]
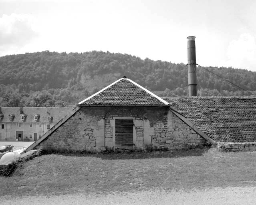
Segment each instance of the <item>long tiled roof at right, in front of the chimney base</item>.
[[256,142],[256,96],[164,99],[216,141]]

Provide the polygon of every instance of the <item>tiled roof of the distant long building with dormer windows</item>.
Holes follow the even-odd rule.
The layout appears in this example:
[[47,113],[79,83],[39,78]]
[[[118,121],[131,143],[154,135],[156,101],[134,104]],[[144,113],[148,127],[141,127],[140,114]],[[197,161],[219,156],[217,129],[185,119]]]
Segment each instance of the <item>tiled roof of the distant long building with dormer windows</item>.
[[[16,122],[16,123],[48,123],[48,116],[52,115],[52,123],[57,123],[60,121],[72,107],[23,107],[22,111],[26,115],[26,120],[22,121],[20,119],[20,108],[19,107],[1,107],[0,113],[4,115],[4,118],[0,118],[0,123],[6,122]],[[12,121],[9,120],[9,115],[14,115]],[[34,120],[34,115],[39,114],[40,117],[37,121]]]

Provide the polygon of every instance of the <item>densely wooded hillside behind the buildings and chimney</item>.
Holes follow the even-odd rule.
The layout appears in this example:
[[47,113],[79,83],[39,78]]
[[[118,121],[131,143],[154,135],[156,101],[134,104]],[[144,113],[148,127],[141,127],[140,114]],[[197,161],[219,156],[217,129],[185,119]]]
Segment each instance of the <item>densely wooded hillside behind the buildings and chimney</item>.
[[[256,72],[206,68],[256,95]],[[197,68],[197,75],[199,96],[250,95],[203,68]],[[159,96],[187,96],[187,66],[183,63],[101,51],[43,51],[0,57],[0,106],[77,104],[123,76]]]

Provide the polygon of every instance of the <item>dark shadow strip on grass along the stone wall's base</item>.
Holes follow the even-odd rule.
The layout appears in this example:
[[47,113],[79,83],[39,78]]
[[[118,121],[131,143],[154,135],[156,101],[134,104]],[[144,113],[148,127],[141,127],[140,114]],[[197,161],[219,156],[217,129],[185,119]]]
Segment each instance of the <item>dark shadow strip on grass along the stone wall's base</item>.
[[152,158],[173,158],[173,157],[188,157],[188,156],[202,156],[208,152],[210,148],[197,148],[181,151],[124,151],[124,152],[110,152],[110,153],[57,153],[64,156],[75,156],[75,157],[97,157],[103,160],[122,160],[122,159],[152,159]]

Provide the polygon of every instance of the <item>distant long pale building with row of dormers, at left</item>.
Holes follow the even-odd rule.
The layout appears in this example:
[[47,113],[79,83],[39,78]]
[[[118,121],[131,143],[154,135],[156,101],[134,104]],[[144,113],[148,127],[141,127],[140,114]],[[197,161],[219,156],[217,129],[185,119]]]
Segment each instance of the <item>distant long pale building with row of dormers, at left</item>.
[[36,141],[72,107],[0,107],[0,141]]

